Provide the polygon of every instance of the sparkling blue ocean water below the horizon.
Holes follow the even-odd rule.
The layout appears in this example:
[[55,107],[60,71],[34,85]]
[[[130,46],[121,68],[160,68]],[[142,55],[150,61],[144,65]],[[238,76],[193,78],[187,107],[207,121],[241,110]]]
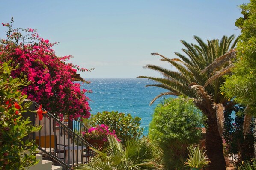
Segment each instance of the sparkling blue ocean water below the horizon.
[[143,78],[95,78],[89,79],[89,81],[91,83],[83,84],[82,88],[91,89],[93,92],[86,94],[92,100],[89,101],[91,114],[102,111],[130,113],[133,117],[141,118],[140,126],[144,128],[143,135],[148,134],[152,114],[161,98],[151,106],[149,103],[155,96],[167,92],[167,90],[158,87],[145,87],[147,84],[155,83]]

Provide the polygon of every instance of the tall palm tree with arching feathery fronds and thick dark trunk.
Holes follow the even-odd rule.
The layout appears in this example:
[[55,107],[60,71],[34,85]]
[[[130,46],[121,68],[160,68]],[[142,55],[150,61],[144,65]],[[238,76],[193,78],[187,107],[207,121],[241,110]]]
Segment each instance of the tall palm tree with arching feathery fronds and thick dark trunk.
[[[147,86],[161,87],[169,90],[156,96],[150,104],[163,95],[186,95],[193,98],[196,106],[207,116],[206,120],[206,149],[208,158],[211,160],[210,170],[225,170],[225,159],[223,156],[222,132],[224,126],[224,110],[232,108],[233,103],[220,92],[220,86],[225,81],[223,77],[213,78],[213,72],[205,70],[216,58],[226,54],[235,47],[238,39],[234,35],[223,36],[221,40],[207,40],[204,43],[199,37],[194,36],[197,44],[189,44],[184,40],[185,46],[181,53],[175,53],[179,58],[167,58],[158,53],[161,61],[169,62],[178,71],[163,68],[156,65],[146,65],[144,68],[161,73],[162,78],[139,76],[158,82]],[[235,40],[234,40],[235,39]],[[233,42],[233,43],[232,43]],[[218,66],[222,70],[224,66]],[[214,71],[217,71],[214,70]]]

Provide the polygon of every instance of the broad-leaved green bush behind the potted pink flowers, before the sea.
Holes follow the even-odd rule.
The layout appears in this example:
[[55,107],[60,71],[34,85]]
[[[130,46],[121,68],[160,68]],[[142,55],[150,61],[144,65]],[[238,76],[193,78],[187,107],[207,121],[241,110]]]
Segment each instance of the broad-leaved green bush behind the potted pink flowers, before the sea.
[[119,112],[98,112],[96,115],[91,115],[91,125],[95,127],[97,124],[105,124],[111,131],[115,131],[116,136],[122,142],[128,138],[139,138],[143,133],[143,128],[140,128],[139,117],[132,117],[131,114]]

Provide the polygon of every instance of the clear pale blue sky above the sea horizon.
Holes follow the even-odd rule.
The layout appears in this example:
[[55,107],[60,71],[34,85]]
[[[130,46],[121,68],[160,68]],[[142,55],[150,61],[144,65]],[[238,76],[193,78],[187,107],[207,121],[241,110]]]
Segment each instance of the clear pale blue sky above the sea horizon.
[[[142,66],[159,61],[151,52],[174,58],[179,40],[195,43],[239,35],[238,5],[249,0],[1,0],[0,23],[14,17],[14,27],[37,29],[58,56],[92,72],[83,78],[136,78],[157,75]],[[0,26],[0,37],[5,37]]]

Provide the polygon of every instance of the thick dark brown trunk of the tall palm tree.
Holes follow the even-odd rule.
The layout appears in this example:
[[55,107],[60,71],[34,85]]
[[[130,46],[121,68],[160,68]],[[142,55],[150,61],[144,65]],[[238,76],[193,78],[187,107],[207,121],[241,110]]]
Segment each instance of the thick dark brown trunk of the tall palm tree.
[[207,156],[211,161],[209,170],[226,170],[222,138],[219,135],[217,118],[208,118],[206,128]]

